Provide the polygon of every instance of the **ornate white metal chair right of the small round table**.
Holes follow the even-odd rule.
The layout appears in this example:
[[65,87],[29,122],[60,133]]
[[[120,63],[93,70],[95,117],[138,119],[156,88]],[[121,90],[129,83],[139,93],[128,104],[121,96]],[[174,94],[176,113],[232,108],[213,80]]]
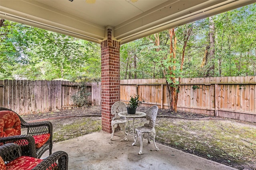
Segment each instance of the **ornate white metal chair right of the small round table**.
[[[148,109],[146,112],[146,119],[149,120],[149,123],[145,123],[144,126],[137,127],[136,128],[136,139],[135,142],[132,145],[136,144],[136,141],[138,138],[140,138],[140,151],[139,154],[142,154],[142,147],[143,147],[143,139],[144,137],[148,138],[148,143],[149,141],[149,136],[153,136],[153,142],[156,147],[156,142],[155,142],[155,136],[156,136],[156,131],[155,131],[155,123],[156,123],[156,115],[158,112],[158,107],[157,106],[152,106]],[[159,151],[159,148],[156,147],[156,151]]]

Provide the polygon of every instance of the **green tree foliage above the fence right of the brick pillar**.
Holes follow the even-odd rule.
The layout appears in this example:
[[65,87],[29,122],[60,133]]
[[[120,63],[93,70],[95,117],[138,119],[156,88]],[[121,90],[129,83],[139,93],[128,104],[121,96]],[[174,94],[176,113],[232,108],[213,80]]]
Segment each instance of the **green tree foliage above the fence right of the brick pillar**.
[[[137,72],[137,78],[164,78],[162,71],[168,66],[176,66],[175,77],[204,77],[212,65],[215,66],[215,69],[210,71],[210,75],[254,76],[256,75],[255,13],[256,4],[254,3],[213,17],[215,55],[214,59],[203,67],[201,67],[201,63],[206,45],[209,43],[209,18],[175,28],[177,38],[175,64],[173,61],[168,62],[170,56],[168,31],[159,33],[160,46],[155,45],[154,35],[124,44],[120,50],[121,79],[134,78],[135,72]],[[183,71],[180,72],[184,31],[191,25],[193,25],[193,30],[185,51]],[[158,48],[161,50],[156,51]],[[137,59],[136,69],[131,60],[134,54]],[[164,57],[167,59],[165,60]],[[128,73],[130,72],[130,77],[128,73],[125,76],[126,70]],[[168,76],[167,78],[169,79]],[[172,84],[170,80],[168,81]]]

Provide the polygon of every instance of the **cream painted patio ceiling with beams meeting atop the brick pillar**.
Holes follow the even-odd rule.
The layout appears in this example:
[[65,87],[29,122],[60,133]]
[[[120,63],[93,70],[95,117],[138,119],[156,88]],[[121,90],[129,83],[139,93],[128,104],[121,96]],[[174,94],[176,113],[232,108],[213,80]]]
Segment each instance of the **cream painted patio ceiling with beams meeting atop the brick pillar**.
[[127,43],[256,0],[0,0],[0,18],[100,43]]

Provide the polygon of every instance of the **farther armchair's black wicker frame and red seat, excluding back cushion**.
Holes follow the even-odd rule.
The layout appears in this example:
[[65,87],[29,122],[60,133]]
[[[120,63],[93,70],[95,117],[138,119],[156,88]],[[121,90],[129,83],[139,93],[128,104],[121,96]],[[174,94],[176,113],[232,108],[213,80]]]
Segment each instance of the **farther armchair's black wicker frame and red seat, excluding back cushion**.
[[[0,107],[1,111],[12,111],[4,107]],[[16,115],[16,112],[12,111]],[[50,121],[41,121],[28,123],[18,115],[20,119],[20,128],[26,129],[26,135],[8,135],[0,137],[0,145],[6,143],[16,143],[22,149],[22,155],[40,158],[42,154],[49,150],[49,155],[52,154],[52,123]],[[1,123],[2,117],[0,117]],[[1,131],[1,129],[0,129]],[[48,140],[45,140],[47,137]]]

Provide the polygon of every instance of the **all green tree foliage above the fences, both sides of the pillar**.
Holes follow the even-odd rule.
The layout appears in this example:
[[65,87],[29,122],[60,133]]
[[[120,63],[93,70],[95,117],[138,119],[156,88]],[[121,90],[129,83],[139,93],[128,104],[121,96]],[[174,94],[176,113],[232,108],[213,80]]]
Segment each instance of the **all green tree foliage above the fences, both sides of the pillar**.
[[[168,31],[123,44],[120,48],[120,78],[164,78],[163,70],[175,66],[175,77],[256,75],[256,4],[213,17],[215,55],[201,66],[209,44],[209,18],[175,28],[176,59],[170,60]],[[180,64],[184,32],[193,25],[182,72]],[[158,49],[160,49],[158,51]],[[0,80],[74,80],[79,76],[100,78],[100,45],[74,37],[5,20],[0,27]],[[167,70],[166,70],[167,71]],[[170,84],[174,83],[167,76]],[[174,85],[175,86],[175,83]]]

